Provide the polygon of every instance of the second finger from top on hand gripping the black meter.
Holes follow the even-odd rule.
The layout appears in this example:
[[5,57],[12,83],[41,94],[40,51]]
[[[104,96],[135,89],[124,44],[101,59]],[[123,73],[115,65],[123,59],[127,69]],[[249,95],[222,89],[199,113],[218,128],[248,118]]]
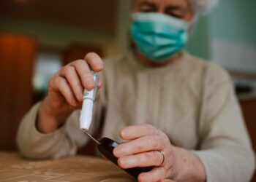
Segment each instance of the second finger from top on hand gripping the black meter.
[[149,135],[142,138],[121,143],[113,150],[116,157],[124,157],[132,154],[139,154],[145,151],[161,151],[165,148],[162,137],[157,135]]

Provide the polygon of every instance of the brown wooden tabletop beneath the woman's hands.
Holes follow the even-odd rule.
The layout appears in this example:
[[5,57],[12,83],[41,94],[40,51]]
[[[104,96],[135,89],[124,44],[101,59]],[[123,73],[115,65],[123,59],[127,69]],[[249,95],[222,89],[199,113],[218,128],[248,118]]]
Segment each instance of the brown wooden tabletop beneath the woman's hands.
[[111,162],[95,157],[28,160],[17,153],[0,152],[0,181],[128,182],[136,180]]

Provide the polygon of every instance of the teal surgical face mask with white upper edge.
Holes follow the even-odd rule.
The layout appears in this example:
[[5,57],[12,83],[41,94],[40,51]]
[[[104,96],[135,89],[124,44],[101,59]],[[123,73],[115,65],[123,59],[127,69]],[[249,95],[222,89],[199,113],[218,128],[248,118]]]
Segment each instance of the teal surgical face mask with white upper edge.
[[164,62],[183,50],[189,23],[156,12],[132,15],[131,36],[138,50],[151,61]]

